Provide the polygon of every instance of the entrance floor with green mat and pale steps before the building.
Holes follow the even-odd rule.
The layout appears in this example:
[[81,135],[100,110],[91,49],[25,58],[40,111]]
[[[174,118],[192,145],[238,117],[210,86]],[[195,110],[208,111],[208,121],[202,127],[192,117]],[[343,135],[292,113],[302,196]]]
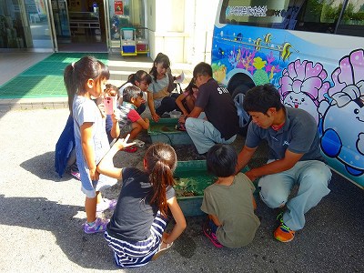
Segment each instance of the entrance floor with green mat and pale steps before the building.
[[[142,69],[149,72],[153,60],[149,56],[125,57],[113,53],[0,53],[0,113],[16,109],[67,107],[63,82],[65,67],[85,55],[96,56],[110,70],[109,83],[121,86],[127,77]],[[183,71],[186,87],[192,78],[193,66],[172,63],[172,74]]]

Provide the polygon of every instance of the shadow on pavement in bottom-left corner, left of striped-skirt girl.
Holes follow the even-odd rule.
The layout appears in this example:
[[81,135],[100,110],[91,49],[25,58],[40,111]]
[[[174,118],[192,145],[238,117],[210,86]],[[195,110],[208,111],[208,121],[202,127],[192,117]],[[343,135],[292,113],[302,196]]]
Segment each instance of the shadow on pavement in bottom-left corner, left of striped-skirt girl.
[[[79,266],[115,269],[112,251],[107,247],[103,235],[86,235],[81,228],[84,220],[75,217],[78,211],[84,210],[84,207],[61,205],[44,197],[4,197],[4,195],[0,195],[0,204],[1,225],[50,231],[67,258]],[[5,207],[12,207],[11,214]]]

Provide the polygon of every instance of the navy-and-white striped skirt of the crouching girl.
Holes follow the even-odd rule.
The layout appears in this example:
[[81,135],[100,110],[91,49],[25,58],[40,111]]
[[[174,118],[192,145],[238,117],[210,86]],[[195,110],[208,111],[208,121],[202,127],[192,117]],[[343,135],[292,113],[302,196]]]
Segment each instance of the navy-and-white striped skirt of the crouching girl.
[[166,218],[157,212],[152,227],[150,227],[151,235],[145,240],[128,242],[112,237],[105,231],[108,246],[114,251],[116,265],[121,268],[137,268],[147,265],[157,252],[166,226]]

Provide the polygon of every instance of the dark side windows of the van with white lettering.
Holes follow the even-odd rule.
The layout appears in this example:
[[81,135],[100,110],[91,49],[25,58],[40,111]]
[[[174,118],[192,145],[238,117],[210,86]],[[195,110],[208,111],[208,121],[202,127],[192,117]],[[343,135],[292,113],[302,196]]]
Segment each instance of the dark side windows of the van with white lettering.
[[364,36],[364,1],[224,0],[220,23]]

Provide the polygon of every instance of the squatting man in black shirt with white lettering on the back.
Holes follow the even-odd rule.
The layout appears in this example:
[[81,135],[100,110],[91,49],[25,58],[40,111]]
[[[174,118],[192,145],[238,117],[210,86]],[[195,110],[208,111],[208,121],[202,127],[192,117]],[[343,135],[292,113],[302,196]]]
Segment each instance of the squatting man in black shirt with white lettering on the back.
[[[185,116],[185,126],[198,154],[207,153],[217,143],[231,144],[238,133],[238,112],[227,88],[212,78],[212,68],[199,63],[193,71],[198,87],[195,107]],[[205,112],[206,118],[198,118]]]

